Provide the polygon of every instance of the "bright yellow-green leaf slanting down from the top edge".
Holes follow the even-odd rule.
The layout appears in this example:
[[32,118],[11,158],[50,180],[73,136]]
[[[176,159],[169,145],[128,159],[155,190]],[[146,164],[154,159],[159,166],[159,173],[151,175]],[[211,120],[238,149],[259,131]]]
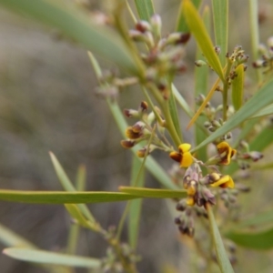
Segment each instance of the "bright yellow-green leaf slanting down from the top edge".
[[187,25],[190,31],[195,35],[197,44],[200,47],[203,55],[206,57],[208,64],[215,70],[222,81],[225,81],[223,69],[219,61],[219,57],[214,49],[206,27],[198,15],[196,7],[190,0],[184,0],[183,12],[187,20]]

